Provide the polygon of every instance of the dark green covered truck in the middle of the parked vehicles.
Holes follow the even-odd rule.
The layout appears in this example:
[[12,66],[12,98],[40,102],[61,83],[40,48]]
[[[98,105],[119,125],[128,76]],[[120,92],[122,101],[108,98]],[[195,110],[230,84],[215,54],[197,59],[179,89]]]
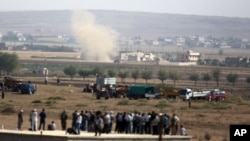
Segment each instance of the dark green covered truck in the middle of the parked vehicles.
[[155,87],[150,85],[134,85],[130,86],[127,97],[129,99],[139,99],[139,98],[159,98],[160,93],[155,93]]

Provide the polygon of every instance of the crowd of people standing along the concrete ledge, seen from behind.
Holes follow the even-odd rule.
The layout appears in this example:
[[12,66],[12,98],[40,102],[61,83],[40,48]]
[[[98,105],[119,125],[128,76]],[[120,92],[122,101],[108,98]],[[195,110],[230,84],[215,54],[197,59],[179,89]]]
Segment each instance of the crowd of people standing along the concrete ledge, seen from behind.
[[[37,124],[40,119],[39,126]],[[38,114],[36,109],[30,113],[30,130],[45,130],[46,112],[43,108]],[[81,131],[94,132],[95,135],[113,132],[118,134],[152,134],[152,135],[187,135],[186,129],[180,125],[180,119],[176,113],[168,114],[149,112],[118,112],[113,111],[77,111],[71,114],[71,125],[68,125],[69,114],[63,110],[60,113],[61,130],[72,131],[80,134]],[[18,113],[17,129],[21,130],[23,123],[23,110]],[[47,130],[56,130],[56,124],[52,121]]]

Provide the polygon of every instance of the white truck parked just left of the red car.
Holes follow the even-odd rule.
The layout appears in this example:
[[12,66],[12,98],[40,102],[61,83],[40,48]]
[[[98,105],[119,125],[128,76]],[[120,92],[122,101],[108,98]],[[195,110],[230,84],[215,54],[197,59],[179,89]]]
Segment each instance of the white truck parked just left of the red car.
[[210,91],[211,90],[193,91],[190,88],[186,88],[179,91],[179,96],[182,100],[205,99],[206,95],[209,94]]

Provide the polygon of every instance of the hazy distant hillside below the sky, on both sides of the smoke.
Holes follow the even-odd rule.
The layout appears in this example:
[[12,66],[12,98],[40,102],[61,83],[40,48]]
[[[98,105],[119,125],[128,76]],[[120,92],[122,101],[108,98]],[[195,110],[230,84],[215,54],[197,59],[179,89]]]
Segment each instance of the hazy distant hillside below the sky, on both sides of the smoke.
[[[250,19],[179,14],[91,10],[98,24],[123,36],[202,35],[250,38]],[[72,11],[0,12],[0,32],[19,30],[31,34],[72,34]]]

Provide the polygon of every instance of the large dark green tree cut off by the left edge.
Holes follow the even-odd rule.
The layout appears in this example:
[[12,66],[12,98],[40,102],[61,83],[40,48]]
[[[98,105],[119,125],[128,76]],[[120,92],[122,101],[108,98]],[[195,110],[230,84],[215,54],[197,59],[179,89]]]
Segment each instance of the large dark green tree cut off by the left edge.
[[15,53],[1,53],[0,52],[0,76],[2,72],[10,74],[19,66],[18,56]]

